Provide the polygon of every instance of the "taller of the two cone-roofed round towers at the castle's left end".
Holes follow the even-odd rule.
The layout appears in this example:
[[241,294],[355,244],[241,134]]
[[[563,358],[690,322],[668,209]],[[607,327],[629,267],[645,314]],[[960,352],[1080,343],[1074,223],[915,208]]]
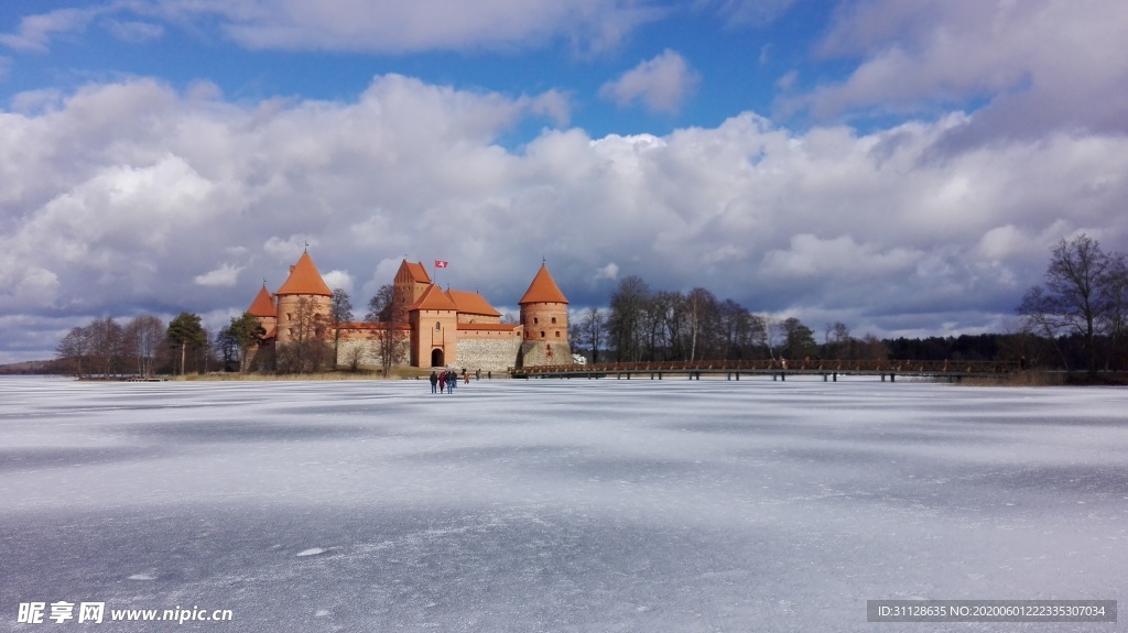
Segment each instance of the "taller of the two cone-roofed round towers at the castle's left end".
[[314,265],[309,251],[290,267],[290,276],[274,296],[280,344],[326,339],[332,327],[333,291]]

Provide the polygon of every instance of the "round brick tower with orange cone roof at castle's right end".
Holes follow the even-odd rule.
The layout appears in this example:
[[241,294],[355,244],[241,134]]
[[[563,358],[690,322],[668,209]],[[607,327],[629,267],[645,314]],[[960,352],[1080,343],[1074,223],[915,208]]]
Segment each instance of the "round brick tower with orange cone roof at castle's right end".
[[544,264],[518,303],[521,306],[521,324],[525,326],[521,366],[571,364],[567,298]]

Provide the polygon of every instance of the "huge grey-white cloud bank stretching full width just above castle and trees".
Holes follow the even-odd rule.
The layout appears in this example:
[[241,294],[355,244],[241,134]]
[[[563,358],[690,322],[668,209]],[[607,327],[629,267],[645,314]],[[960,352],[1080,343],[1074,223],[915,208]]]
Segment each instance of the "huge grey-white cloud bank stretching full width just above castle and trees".
[[744,114],[501,148],[535,116],[528,100],[395,75],[347,102],[136,80],[2,113],[0,318],[222,315],[259,279],[276,288],[308,241],[355,305],[404,256],[450,260],[444,286],[513,305],[546,257],[574,309],[638,275],[856,330],[971,329],[1013,313],[1057,237],[1128,240],[1123,136],[1050,132],[934,160],[977,115],[860,134]]

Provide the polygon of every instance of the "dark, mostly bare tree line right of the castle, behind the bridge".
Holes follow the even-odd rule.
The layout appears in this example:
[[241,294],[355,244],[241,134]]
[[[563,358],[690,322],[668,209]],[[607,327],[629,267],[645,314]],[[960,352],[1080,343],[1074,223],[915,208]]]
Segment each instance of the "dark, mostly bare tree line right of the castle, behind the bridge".
[[1085,234],[1051,250],[1043,283],[1015,311],[1017,331],[917,339],[855,337],[840,321],[820,330],[797,318],[756,314],[706,288],[653,291],[619,282],[607,309],[570,326],[573,351],[589,362],[738,359],[1011,360],[1066,371],[1128,369],[1128,257]]

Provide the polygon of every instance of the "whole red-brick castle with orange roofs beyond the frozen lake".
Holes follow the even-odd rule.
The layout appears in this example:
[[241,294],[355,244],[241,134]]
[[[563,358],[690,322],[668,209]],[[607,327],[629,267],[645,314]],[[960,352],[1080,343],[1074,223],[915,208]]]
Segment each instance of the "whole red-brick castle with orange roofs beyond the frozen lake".
[[306,251],[276,292],[264,283],[247,309],[266,332],[250,365],[273,369],[288,346],[306,341],[336,342],[338,366],[380,365],[381,348],[389,345],[406,351],[396,364],[406,360],[413,367],[504,372],[571,363],[567,298],[544,264],[518,304],[520,323],[502,323],[481,294],[443,291],[422,262],[404,259],[386,321],[334,323],[333,291]]

